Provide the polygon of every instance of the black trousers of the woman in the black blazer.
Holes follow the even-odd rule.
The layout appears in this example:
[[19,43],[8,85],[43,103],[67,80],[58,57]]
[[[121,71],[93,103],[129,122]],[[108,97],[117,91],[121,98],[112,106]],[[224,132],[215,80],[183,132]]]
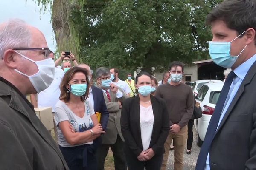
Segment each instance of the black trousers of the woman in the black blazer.
[[163,161],[163,154],[154,155],[148,161],[139,161],[137,156],[128,148],[125,147],[125,157],[127,160],[128,170],[160,170]]

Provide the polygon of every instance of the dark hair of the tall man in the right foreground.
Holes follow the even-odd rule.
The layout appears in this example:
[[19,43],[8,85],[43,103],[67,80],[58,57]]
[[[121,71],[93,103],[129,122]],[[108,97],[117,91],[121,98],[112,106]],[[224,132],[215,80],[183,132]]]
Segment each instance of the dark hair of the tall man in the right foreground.
[[256,1],[225,0],[207,15],[206,24],[210,25],[216,20],[224,21],[228,28],[237,31],[237,35],[242,34],[248,28],[256,30]]

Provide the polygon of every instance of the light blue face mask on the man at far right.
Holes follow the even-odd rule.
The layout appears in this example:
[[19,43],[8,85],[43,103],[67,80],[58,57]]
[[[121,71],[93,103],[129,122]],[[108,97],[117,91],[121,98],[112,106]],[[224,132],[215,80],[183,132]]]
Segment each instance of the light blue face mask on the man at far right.
[[[244,34],[244,32],[242,34]],[[240,37],[242,34],[240,34],[238,37]],[[234,40],[236,40],[238,37],[236,37]],[[237,56],[231,56],[230,55],[231,42],[233,42],[234,40],[230,42],[220,42],[220,41],[209,42],[209,54],[213,62],[215,62],[215,64],[224,68],[231,68],[235,64],[237,58],[244,51],[247,45]]]

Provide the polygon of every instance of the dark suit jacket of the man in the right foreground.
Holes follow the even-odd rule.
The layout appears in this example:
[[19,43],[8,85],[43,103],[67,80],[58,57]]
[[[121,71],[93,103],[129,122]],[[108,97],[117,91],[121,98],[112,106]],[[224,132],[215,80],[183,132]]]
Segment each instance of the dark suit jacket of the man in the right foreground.
[[256,62],[215,133],[209,157],[211,170],[256,169]]

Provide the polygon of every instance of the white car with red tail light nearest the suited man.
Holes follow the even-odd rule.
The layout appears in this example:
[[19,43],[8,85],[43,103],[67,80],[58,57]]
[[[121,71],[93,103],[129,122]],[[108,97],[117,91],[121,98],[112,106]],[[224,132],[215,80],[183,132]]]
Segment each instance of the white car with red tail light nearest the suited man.
[[198,91],[195,100],[200,103],[202,117],[195,119],[194,125],[197,131],[197,145],[201,146],[204,141],[209,121],[218,101],[224,82],[205,83]]

